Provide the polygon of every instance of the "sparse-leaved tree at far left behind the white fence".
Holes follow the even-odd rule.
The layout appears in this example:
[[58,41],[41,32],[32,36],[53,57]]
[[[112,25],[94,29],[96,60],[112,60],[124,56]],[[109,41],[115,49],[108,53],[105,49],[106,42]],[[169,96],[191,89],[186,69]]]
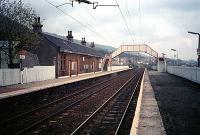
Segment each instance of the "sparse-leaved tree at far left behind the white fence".
[[35,18],[35,11],[21,0],[0,0],[0,40],[6,41],[3,46],[8,51],[5,47],[0,49],[8,55],[10,68],[20,50],[36,44],[38,35],[32,31]]

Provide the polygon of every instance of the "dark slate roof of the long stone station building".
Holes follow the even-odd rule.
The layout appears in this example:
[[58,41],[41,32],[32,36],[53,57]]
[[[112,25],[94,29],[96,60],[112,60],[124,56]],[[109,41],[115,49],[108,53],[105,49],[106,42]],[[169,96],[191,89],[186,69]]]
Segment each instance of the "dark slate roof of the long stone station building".
[[75,43],[67,40],[67,38],[58,37],[54,35],[50,35],[47,33],[42,33],[43,36],[49,40],[51,43],[56,45],[60,48],[60,52],[67,52],[67,53],[75,53],[75,54],[83,54],[95,57],[103,57],[103,54],[98,52],[97,50]]

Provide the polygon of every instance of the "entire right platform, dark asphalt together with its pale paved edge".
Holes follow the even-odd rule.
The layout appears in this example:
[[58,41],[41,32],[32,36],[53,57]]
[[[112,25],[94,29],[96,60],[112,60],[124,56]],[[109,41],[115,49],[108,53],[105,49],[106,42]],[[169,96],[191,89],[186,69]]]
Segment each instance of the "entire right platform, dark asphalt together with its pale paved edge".
[[132,135],[200,133],[200,86],[168,73],[144,75]]

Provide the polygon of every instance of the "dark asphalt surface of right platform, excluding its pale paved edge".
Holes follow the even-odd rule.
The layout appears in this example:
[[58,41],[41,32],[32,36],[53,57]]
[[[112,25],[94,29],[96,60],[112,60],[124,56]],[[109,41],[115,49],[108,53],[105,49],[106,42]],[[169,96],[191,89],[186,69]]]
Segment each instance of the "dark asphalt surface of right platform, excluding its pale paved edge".
[[200,86],[168,73],[149,72],[168,135],[200,134]]

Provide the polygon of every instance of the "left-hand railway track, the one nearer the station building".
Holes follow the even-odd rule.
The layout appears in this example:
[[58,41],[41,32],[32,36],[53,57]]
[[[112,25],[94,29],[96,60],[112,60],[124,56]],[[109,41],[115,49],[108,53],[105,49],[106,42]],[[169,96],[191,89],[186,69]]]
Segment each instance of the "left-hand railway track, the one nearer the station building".
[[[114,77],[105,81],[102,81],[98,84],[95,84],[91,87],[85,88],[81,91],[75,92],[71,95],[62,97],[53,102],[35,108],[31,111],[24,112],[20,115],[17,115],[13,118],[5,121],[5,125],[1,126],[1,134],[24,134],[27,131],[41,125],[41,123],[48,121],[52,117],[55,117],[58,114],[61,114],[65,110],[69,110],[73,106],[83,102],[87,98],[93,97],[100,93],[101,91],[105,91],[106,88],[110,86],[110,84],[117,83],[115,88],[113,86],[113,90],[123,84],[127,79],[127,74],[122,74],[119,78]],[[130,76],[130,75],[129,75]],[[14,123],[13,123],[14,122]],[[52,121],[51,121],[52,122]],[[34,134],[37,132],[33,132]]]

